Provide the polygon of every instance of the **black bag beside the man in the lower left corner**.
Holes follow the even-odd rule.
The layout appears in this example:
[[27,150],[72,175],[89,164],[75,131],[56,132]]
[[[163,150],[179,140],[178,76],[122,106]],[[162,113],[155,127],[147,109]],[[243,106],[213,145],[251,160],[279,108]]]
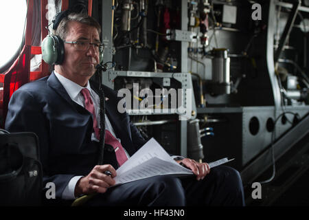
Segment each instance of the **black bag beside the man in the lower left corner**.
[[35,133],[0,130],[0,206],[41,205],[38,137]]

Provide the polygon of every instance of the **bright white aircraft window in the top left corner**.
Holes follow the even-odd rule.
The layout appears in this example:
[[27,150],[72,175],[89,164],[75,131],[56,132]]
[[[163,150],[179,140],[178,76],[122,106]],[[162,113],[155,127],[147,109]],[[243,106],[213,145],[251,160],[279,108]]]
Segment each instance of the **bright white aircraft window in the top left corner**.
[[27,2],[0,1],[0,69],[12,63],[23,41]]

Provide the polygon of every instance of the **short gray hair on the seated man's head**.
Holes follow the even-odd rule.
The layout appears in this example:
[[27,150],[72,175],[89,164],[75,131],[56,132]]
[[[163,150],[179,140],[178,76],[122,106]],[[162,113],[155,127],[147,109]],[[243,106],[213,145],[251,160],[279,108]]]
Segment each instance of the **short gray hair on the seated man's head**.
[[69,23],[69,21],[77,21],[79,23],[94,27],[98,30],[99,36],[101,34],[100,24],[98,21],[93,19],[93,17],[90,17],[85,13],[70,13],[67,17],[60,21],[57,30],[54,32],[54,35],[59,36],[63,41],[67,38],[67,23]]

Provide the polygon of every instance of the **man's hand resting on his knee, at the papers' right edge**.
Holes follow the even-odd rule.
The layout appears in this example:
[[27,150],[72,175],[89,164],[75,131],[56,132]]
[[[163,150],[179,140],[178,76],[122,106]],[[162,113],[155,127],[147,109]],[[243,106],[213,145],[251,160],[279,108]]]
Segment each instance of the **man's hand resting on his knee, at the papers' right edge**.
[[196,175],[197,180],[204,179],[205,175],[210,172],[210,167],[207,163],[198,163],[194,159],[185,158],[177,162],[182,162],[187,168],[190,168]]

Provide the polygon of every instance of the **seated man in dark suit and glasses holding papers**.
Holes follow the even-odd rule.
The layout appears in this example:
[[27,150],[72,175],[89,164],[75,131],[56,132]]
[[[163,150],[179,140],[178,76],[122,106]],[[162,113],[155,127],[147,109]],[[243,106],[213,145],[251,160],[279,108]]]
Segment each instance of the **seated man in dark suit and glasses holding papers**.
[[[99,63],[100,25],[87,14],[69,14],[61,19],[56,35],[63,41],[63,61],[55,65],[49,77],[14,92],[5,129],[38,135],[43,184],[56,184],[57,201],[71,203],[80,195],[98,192],[86,205],[244,205],[242,183],[236,170],[220,166],[210,172],[207,163],[189,158],[181,162],[196,177],[151,177],[109,188],[115,184],[113,177],[121,163],[115,153],[118,148],[114,150],[105,144],[104,165],[97,165],[100,98],[98,86],[89,81]],[[130,123],[128,114],[117,111],[119,98],[115,91],[104,87],[104,94],[105,129],[121,144],[119,147],[124,149],[126,157],[130,157],[145,140]],[[111,175],[104,174],[106,170]]]

